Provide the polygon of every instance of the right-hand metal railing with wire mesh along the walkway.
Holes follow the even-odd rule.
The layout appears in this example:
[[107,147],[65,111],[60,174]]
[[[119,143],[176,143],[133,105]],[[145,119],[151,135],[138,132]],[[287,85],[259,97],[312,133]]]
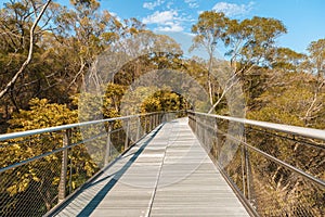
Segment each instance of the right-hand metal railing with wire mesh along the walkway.
[[188,112],[203,146],[252,216],[325,216],[325,131]]

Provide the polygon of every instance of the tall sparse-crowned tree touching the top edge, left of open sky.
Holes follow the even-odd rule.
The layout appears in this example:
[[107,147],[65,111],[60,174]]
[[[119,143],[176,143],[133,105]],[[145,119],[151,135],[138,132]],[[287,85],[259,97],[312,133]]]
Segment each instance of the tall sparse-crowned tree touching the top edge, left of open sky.
[[[60,41],[60,48],[68,50],[73,54],[72,63],[75,67],[69,72],[67,91],[73,87],[79,87],[86,72],[94,63],[96,56],[110,43],[120,37],[122,24],[108,11],[100,11],[100,3],[95,0],[72,1],[73,9],[62,9],[56,17],[55,38]],[[81,82],[80,82],[81,81]]]

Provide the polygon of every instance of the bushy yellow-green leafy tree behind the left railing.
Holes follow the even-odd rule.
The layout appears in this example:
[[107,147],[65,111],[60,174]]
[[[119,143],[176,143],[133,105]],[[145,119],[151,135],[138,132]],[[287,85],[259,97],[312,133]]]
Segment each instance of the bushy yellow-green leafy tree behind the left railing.
[[[10,120],[10,132],[77,122],[77,111],[70,111],[66,105],[50,103],[47,99],[32,99],[29,105],[29,111],[22,110]],[[0,148],[0,166],[5,167],[49,153],[61,148],[60,143],[62,143],[62,133],[53,132],[31,136],[28,139],[25,138],[25,140],[15,139],[9,141],[9,143]],[[77,141],[80,141],[80,135],[74,132],[72,142]],[[76,189],[89,179],[98,170],[98,167],[90,158],[84,145],[73,148],[68,153],[68,157],[74,164],[69,165],[69,167],[73,166],[72,169],[77,173],[73,175],[70,180],[72,189]],[[34,214],[43,215],[52,208],[57,201],[61,162],[62,152],[1,174],[0,194],[6,197],[5,204],[0,206],[1,216],[5,216],[8,214],[5,212],[10,212],[13,216],[30,215],[29,208],[34,209]],[[67,177],[69,177],[68,174]],[[39,201],[30,203],[28,196],[31,195],[32,199],[39,199]]]

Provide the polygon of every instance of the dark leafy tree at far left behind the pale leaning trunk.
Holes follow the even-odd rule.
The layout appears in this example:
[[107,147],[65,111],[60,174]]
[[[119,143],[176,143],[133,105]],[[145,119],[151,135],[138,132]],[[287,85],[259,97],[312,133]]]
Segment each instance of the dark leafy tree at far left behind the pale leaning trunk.
[[[57,95],[63,95],[60,93],[56,95],[56,91],[52,90],[62,74],[61,71],[56,71],[60,64],[56,64],[57,59],[53,58],[55,51],[49,48],[49,38],[52,37],[50,33],[54,28],[51,21],[56,15],[60,4],[51,2],[44,9],[44,3],[46,1],[39,0],[10,1],[0,11],[3,24],[0,26],[0,37],[3,39],[0,40],[0,89],[5,90],[11,84],[1,98],[1,106],[5,110],[6,118],[10,118],[14,111],[27,108],[31,98],[47,95],[57,99]],[[36,25],[36,16],[40,17],[41,9],[44,11]],[[30,31],[32,24],[34,33]],[[30,35],[34,40],[30,40]],[[31,58],[29,63],[24,66],[24,71],[17,73],[17,68],[22,69],[28,62],[26,62],[28,56]],[[20,76],[15,79],[16,75]],[[15,81],[11,82],[13,80]]]

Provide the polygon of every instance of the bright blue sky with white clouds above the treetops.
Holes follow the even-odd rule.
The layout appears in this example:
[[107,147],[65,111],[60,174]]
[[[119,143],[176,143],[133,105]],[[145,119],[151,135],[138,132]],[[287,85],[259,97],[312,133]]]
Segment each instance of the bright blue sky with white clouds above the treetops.
[[[56,0],[68,4],[68,0]],[[1,3],[5,0],[0,0]],[[325,38],[325,0],[101,0],[101,8],[117,17],[136,17],[159,34],[191,46],[191,26],[202,11],[222,11],[231,18],[264,16],[281,20],[288,34],[277,46],[306,52],[311,41]]]

